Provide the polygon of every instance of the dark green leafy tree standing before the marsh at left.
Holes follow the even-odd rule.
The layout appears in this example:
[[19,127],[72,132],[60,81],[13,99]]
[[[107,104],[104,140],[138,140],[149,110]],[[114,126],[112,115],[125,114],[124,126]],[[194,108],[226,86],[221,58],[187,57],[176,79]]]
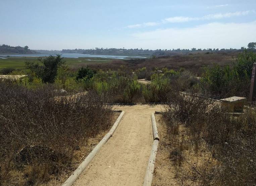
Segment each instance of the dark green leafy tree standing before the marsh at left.
[[35,64],[34,62],[25,62],[27,68],[31,69],[38,77],[42,78],[44,82],[53,83],[57,75],[57,70],[65,62],[62,61],[60,54],[57,56],[50,55],[49,57],[38,60],[43,63],[43,66],[40,66],[39,63]]

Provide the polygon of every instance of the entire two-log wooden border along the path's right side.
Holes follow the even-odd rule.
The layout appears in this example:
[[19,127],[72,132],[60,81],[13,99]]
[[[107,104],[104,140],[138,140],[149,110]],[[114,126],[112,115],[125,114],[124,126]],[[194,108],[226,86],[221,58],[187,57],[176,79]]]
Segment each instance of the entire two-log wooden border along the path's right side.
[[155,169],[155,162],[156,162],[156,153],[157,153],[157,147],[159,143],[159,137],[158,137],[158,131],[157,131],[157,126],[156,126],[156,119],[154,113],[151,114],[151,120],[152,120],[152,130],[153,130],[153,144],[152,144],[152,149],[147,165],[147,170],[146,174],[144,177],[144,183],[143,186],[151,186],[152,180],[153,180],[153,174],[154,174],[154,169]]

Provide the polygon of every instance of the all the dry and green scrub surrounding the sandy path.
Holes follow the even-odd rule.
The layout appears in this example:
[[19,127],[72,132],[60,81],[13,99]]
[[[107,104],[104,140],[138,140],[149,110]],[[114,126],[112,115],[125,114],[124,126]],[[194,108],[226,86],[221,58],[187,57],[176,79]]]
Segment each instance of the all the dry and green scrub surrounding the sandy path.
[[[0,184],[47,184],[74,170],[75,154],[87,137],[112,121],[111,106],[105,103],[165,103],[173,139],[170,161],[182,184],[253,185],[255,111],[233,117],[208,99],[248,98],[256,55],[231,55],[167,56],[79,68],[57,55],[28,60],[24,69],[2,69],[2,74],[29,76],[0,81]],[[86,93],[66,97],[79,92]]]

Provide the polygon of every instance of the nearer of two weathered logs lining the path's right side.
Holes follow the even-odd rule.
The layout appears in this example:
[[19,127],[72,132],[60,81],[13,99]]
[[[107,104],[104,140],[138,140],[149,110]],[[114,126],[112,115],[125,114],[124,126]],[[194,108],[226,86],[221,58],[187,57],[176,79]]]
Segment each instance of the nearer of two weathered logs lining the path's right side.
[[153,180],[153,173],[155,169],[155,162],[156,162],[156,153],[157,153],[157,147],[158,147],[159,141],[157,139],[154,140],[149,161],[148,161],[148,166],[146,170],[146,174],[144,177],[144,183],[143,186],[151,186],[152,180]]

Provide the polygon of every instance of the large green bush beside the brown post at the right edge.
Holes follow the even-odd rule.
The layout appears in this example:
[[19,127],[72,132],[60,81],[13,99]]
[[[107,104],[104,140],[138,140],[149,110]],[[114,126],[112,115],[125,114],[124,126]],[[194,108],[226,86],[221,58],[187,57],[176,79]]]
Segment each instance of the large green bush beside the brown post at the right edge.
[[203,91],[209,90],[211,95],[218,97],[248,97],[254,62],[256,54],[245,50],[234,61],[233,67],[226,65],[221,68],[214,65],[212,68],[205,68],[202,78]]

